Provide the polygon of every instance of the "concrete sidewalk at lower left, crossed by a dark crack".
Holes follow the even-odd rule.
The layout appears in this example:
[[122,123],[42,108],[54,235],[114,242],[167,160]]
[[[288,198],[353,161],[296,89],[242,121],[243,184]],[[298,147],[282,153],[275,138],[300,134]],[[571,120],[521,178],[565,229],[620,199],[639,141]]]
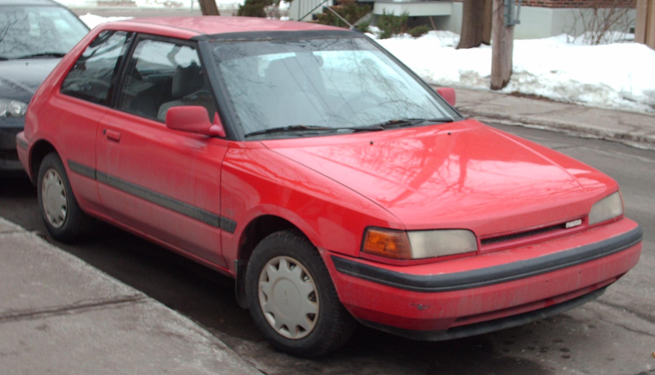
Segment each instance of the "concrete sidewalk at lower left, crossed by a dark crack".
[[190,319],[0,218],[0,374],[261,374]]

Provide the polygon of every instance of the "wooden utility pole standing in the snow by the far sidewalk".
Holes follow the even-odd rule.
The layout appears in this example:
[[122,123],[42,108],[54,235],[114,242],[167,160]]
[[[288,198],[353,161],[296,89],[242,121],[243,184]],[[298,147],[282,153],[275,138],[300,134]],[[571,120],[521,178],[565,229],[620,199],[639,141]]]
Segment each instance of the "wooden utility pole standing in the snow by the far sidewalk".
[[512,75],[514,26],[519,23],[519,4],[515,0],[493,0],[491,29],[491,90],[507,86]]

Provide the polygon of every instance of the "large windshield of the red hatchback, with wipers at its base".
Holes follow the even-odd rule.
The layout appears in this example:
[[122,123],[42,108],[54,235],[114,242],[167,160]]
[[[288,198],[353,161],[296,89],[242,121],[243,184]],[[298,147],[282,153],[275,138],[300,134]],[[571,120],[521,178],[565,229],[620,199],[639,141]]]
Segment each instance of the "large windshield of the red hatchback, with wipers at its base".
[[366,37],[217,41],[212,51],[246,135],[459,116]]

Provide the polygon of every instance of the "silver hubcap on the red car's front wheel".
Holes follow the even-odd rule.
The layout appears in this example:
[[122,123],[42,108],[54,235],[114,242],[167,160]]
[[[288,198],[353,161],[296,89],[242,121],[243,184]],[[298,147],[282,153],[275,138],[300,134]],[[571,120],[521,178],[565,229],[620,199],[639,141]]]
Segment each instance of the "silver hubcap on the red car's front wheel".
[[307,336],[318,321],[318,291],[307,269],[291,257],[275,257],[259,274],[259,306],[276,332]]

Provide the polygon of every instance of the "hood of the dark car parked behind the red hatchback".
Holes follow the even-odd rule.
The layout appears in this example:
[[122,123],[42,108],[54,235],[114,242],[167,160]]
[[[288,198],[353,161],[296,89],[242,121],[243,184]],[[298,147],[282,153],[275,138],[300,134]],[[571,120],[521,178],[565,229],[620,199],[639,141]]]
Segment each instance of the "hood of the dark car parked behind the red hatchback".
[[0,61],[0,97],[29,103],[59,58]]

